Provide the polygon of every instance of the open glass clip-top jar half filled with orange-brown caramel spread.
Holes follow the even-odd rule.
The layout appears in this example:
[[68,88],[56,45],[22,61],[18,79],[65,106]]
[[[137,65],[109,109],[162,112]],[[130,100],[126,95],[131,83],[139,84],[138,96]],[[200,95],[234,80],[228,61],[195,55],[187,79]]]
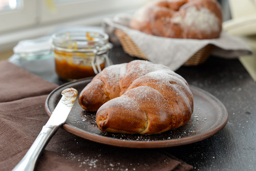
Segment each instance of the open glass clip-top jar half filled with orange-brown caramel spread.
[[70,30],[56,32],[51,37],[55,56],[55,71],[64,80],[95,76],[105,66],[112,44],[104,32]]

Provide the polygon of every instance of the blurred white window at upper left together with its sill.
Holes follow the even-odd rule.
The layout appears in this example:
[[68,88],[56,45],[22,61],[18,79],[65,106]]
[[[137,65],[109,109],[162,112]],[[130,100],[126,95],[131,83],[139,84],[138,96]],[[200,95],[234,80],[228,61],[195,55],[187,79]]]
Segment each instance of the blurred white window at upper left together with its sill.
[[100,26],[150,0],[0,0],[0,51],[61,26]]

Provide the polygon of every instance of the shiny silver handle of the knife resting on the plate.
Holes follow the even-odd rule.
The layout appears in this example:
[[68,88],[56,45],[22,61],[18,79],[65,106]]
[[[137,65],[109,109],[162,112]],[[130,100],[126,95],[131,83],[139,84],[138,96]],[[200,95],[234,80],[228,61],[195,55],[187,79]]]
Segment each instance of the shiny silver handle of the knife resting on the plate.
[[34,170],[38,157],[59,127],[60,126],[44,125],[42,131],[39,133],[38,137],[36,137],[34,143],[27,151],[26,155],[15,166],[13,171]]

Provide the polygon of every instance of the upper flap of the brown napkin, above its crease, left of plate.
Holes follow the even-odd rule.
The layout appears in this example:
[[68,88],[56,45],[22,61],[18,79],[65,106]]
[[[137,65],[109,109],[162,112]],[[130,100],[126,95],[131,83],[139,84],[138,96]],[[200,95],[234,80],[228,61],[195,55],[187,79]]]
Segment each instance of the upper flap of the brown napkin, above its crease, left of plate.
[[0,71],[0,102],[47,95],[57,87],[6,61],[0,63]]

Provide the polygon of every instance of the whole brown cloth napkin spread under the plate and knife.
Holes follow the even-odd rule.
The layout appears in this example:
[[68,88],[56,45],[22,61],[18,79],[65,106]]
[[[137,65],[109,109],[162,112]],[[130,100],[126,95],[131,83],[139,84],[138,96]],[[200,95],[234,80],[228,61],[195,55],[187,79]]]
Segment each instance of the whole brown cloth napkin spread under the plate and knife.
[[[0,62],[0,168],[11,170],[25,156],[48,117],[44,103],[58,87],[7,61]],[[157,149],[94,143],[58,129],[35,170],[192,170]]]

